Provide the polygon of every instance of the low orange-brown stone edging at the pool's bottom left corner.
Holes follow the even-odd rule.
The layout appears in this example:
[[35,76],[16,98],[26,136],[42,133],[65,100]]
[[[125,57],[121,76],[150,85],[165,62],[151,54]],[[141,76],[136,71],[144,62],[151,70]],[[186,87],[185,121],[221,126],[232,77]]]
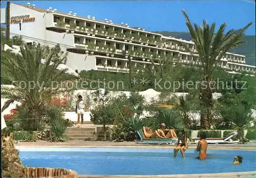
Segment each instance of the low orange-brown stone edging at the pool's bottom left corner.
[[25,167],[25,177],[47,177],[47,178],[77,178],[75,171],[63,168],[41,168],[41,167]]

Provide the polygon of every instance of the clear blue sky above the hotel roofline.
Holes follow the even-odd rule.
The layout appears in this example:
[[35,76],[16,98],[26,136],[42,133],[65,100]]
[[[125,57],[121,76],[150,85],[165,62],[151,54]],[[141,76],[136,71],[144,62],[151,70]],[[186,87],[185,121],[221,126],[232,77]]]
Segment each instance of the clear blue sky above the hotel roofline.
[[[37,8],[52,7],[59,12],[76,12],[78,16],[108,18],[114,23],[128,23],[130,27],[141,27],[146,31],[187,32],[184,9],[193,23],[207,22],[228,24],[227,30],[239,29],[250,21],[252,26],[247,35],[255,35],[255,2],[243,0],[229,1],[10,1],[26,5],[30,2]],[[6,2],[1,3],[1,8]],[[22,14],[20,14],[22,15]]]

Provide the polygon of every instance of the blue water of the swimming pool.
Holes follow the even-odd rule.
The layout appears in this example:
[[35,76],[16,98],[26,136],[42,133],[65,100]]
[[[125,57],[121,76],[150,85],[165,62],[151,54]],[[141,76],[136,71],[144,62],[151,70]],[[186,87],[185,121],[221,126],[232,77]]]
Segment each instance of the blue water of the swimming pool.
[[[180,152],[160,148],[24,148],[19,149],[24,166],[67,168],[78,174],[157,175],[245,172],[256,170],[256,151],[207,150],[206,160],[195,159],[198,152]],[[233,157],[243,156],[243,163],[232,165]]]

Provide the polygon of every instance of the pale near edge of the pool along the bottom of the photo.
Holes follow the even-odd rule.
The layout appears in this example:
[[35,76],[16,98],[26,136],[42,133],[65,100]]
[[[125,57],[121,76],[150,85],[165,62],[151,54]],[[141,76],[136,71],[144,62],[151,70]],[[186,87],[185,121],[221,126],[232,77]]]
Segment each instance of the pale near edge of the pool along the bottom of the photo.
[[241,177],[243,175],[256,175],[256,171],[249,172],[227,172],[227,173],[205,173],[205,174],[168,174],[168,175],[78,175],[78,178],[101,178],[101,177],[118,177],[118,178],[144,178],[144,177]]

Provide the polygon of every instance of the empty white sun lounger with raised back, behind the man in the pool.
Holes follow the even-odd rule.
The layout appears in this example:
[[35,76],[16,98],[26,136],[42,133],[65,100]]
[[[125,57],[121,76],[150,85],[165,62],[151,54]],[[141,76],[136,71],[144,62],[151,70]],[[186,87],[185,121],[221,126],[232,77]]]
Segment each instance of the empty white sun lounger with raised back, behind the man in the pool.
[[[231,138],[235,135],[238,135],[238,132],[234,131],[231,132],[230,134],[228,134],[226,137],[224,138],[206,138],[207,143],[238,143],[238,140],[233,141]],[[192,140],[194,140],[195,143],[198,143],[200,138],[193,138]]]

